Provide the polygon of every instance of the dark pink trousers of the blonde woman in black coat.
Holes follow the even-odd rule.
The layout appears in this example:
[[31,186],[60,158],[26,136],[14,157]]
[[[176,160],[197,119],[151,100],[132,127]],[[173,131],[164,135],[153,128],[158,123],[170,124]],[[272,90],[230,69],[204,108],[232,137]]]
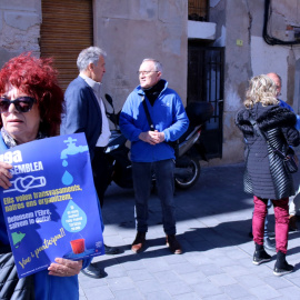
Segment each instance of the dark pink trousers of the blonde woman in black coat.
[[[289,198],[271,200],[274,207],[276,218],[276,250],[287,253],[289,233]],[[253,240],[263,244],[264,218],[267,214],[268,199],[253,197],[254,213],[252,219]]]

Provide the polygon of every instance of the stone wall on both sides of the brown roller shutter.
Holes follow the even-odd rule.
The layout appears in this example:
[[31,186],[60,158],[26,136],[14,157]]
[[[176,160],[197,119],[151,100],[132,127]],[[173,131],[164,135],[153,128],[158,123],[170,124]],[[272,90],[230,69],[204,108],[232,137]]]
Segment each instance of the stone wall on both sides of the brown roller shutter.
[[[186,0],[94,0],[94,44],[107,53],[103,92],[121,109],[138,86],[143,58],[163,64],[163,78],[186,102],[187,98]],[[41,0],[0,1],[0,66],[24,51],[40,54]]]

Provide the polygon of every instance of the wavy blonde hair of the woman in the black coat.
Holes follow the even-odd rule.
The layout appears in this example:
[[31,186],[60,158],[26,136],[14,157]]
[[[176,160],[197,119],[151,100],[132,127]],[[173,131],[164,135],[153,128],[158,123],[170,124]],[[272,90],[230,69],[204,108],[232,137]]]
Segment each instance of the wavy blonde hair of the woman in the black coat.
[[260,74],[251,78],[249,88],[246,91],[246,100],[243,104],[247,108],[252,108],[256,103],[261,102],[263,107],[276,106],[277,87],[272,79],[266,74]]

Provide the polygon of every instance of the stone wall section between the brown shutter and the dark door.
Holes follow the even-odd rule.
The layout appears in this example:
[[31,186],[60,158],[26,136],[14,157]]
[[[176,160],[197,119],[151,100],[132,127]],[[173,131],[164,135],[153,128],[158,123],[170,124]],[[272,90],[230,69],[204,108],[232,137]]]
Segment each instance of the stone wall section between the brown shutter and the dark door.
[[94,16],[94,43],[108,52],[103,90],[112,94],[117,111],[139,84],[137,71],[144,58],[161,61],[162,78],[186,102],[186,0],[99,0]]

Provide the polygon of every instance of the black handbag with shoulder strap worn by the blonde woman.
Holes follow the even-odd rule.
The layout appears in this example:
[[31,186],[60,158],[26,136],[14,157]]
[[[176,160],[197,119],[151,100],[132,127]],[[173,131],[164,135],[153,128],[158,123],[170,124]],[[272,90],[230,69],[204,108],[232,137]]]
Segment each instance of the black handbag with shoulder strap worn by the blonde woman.
[[276,153],[279,158],[282,159],[283,164],[286,166],[286,169],[290,172],[290,173],[296,173],[298,171],[298,158],[294,154],[293,150],[291,148],[290,151],[288,150],[289,153],[283,153],[282,151],[280,151],[279,149],[276,149],[268,140],[268,138],[266,137],[264,132],[262,132],[258,124],[253,121],[250,120],[251,124],[253,126],[253,129],[257,130],[257,132],[266,140],[266,142],[271,147],[273,153]]

